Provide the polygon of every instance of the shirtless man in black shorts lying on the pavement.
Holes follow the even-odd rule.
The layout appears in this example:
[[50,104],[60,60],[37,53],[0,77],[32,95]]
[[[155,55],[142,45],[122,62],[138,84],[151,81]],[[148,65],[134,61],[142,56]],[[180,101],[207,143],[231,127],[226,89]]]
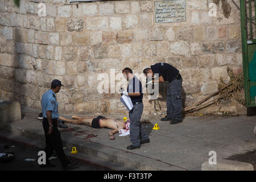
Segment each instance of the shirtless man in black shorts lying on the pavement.
[[77,115],[72,115],[73,119],[67,119],[59,116],[59,119],[63,121],[77,124],[77,125],[86,125],[93,128],[101,129],[101,128],[109,128],[112,131],[109,131],[109,139],[115,139],[114,134],[118,132],[118,130],[126,129],[126,122],[122,119],[117,118],[106,118],[99,115],[97,118],[93,117],[78,117]]

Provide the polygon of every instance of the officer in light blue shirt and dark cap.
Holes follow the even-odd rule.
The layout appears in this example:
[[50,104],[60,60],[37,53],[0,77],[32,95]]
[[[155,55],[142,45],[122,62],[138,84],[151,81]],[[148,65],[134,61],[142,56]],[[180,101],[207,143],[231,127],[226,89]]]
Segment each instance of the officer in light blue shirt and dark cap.
[[57,119],[59,118],[58,106],[56,101],[56,93],[61,89],[60,80],[53,80],[51,83],[51,89],[45,92],[42,96],[42,113],[43,113],[43,129],[46,137],[46,164],[42,164],[41,167],[55,167],[54,164],[49,163],[49,158],[52,156],[53,150],[58,155],[61,166],[64,170],[77,168],[77,163],[71,163],[65,156],[63,150],[63,143],[60,138],[60,132],[57,128]]

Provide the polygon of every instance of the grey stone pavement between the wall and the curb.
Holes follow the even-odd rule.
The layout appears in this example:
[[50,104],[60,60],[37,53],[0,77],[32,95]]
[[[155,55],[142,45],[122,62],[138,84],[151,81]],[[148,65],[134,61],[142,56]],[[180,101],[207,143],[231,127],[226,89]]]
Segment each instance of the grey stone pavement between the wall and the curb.
[[[16,136],[22,135],[38,140],[41,142],[41,147],[44,147],[42,121],[37,119],[39,113],[39,110],[22,108],[23,119],[5,125],[2,129]],[[60,115],[71,118],[71,115]],[[127,115],[106,116],[128,118]],[[65,123],[69,126],[68,129],[59,128],[59,130],[64,146],[67,146],[66,154],[71,152],[72,147],[77,147],[79,154],[94,156],[127,167],[115,169],[201,170],[201,164],[210,158],[208,155],[210,151],[216,151],[218,161],[234,154],[254,150],[255,122],[255,116],[245,115],[187,116],[177,125],[170,125],[170,122],[162,122],[160,119],[150,119],[150,123],[142,123],[142,125],[149,134],[151,142],[131,151],[126,149],[131,144],[129,136],[119,137],[117,133],[115,140],[110,140],[108,137],[110,129],[93,129],[84,125]],[[158,123],[159,130],[152,130],[155,123]]]

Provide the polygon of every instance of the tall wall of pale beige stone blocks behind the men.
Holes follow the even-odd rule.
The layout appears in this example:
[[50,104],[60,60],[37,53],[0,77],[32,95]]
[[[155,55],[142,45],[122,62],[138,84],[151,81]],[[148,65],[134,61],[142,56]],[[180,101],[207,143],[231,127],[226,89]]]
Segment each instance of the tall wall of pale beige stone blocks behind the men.
[[[39,3],[46,16],[39,16]],[[240,11],[224,18],[208,15],[212,0],[187,0],[187,21],[155,23],[154,1],[68,0],[0,1],[0,99],[40,109],[40,98],[54,78],[65,87],[57,94],[60,113],[127,114],[119,94],[99,94],[98,73],[136,73],[151,64],[174,65],[183,76],[184,106],[217,90],[227,66],[242,71]],[[239,6],[239,1],[235,1]],[[166,112],[166,84],[157,101],[144,96],[144,117]],[[214,112],[212,106],[205,112]],[[234,101],[222,109],[245,111]]]

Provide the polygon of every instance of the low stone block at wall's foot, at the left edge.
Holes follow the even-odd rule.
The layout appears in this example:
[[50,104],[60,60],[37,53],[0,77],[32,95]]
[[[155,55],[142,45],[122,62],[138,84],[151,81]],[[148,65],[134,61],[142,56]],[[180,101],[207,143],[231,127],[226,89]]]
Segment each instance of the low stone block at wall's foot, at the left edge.
[[4,127],[10,122],[22,119],[19,102],[1,101],[0,102],[0,125]]

